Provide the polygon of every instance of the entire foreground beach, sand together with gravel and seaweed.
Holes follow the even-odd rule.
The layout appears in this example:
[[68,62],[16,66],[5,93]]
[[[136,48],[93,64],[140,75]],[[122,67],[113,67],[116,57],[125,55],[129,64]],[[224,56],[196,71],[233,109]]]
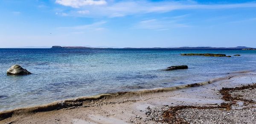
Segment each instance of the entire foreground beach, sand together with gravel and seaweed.
[[[47,111],[41,107],[12,111],[0,124],[122,124],[122,123],[251,123],[256,121],[254,88],[229,90],[256,83],[256,73],[231,74],[199,85],[105,95],[80,99],[66,108]],[[244,100],[246,99],[246,100]],[[53,105],[54,106],[54,105]],[[52,107],[54,108],[54,107]],[[170,121],[172,120],[172,121]]]

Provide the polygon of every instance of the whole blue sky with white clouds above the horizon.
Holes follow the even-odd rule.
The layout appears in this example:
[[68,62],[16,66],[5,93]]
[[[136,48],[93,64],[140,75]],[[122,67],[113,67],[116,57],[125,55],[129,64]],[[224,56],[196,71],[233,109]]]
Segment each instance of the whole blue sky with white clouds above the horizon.
[[0,48],[256,48],[253,0],[0,0]]

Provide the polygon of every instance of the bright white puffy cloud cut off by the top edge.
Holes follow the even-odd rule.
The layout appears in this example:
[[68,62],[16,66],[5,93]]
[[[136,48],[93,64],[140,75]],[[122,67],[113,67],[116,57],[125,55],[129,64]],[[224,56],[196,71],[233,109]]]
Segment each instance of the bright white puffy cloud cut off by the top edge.
[[79,8],[87,5],[104,5],[107,2],[105,0],[56,0],[55,3],[63,6],[71,6],[73,8]]

